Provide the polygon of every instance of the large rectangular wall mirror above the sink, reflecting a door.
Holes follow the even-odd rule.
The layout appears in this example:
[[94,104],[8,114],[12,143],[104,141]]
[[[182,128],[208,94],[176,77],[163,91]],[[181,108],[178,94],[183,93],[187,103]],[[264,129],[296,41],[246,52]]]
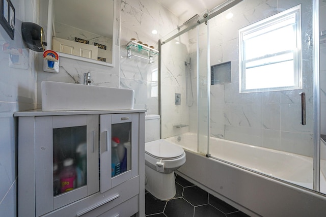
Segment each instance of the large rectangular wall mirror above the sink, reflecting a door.
[[114,0],[49,0],[48,9],[47,49],[113,66]]

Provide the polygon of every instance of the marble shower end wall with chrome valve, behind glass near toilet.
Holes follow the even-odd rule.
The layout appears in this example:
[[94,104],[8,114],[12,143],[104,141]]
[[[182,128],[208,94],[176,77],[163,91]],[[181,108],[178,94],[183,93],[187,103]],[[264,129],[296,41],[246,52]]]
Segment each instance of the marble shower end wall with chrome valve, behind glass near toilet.
[[[186,36],[186,35],[185,35]],[[189,61],[188,47],[184,39],[172,40],[162,45],[161,64],[161,137],[167,138],[184,132],[189,125],[188,106],[186,102],[186,73],[189,73],[185,62]],[[175,94],[180,94],[180,105],[175,104]],[[196,105],[196,104],[194,104]]]

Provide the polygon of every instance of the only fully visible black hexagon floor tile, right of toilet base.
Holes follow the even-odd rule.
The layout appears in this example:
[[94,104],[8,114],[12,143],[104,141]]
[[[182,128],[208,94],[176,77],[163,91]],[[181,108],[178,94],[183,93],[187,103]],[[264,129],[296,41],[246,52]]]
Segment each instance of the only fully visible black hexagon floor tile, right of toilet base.
[[197,186],[184,188],[182,197],[194,206],[208,204],[208,193]]

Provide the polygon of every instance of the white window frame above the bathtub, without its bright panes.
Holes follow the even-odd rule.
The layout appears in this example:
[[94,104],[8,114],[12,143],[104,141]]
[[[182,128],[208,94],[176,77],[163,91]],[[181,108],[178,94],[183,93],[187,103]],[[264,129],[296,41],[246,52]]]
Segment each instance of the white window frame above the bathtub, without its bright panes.
[[[273,30],[277,29],[276,26],[280,26],[280,23],[293,19],[295,20],[294,24],[291,24],[294,26],[295,30],[295,36],[296,36],[296,48],[291,50],[283,50],[282,52],[277,53],[271,53],[266,54],[263,56],[258,56],[252,59],[246,59],[246,53],[244,52],[245,49],[245,42],[248,39],[257,37],[259,35],[268,34],[270,29]],[[274,26],[274,28],[273,28]],[[285,26],[285,25],[284,25]],[[261,21],[258,21],[256,23],[253,23],[251,25],[248,25],[246,27],[243,27],[239,29],[238,31],[238,40],[239,40],[239,92],[262,92],[262,91],[277,91],[277,90],[293,90],[293,89],[302,89],[302,60],[301,60],[301,7],[300,5],[295,6],[293,8],[290,8],[286,11],[280,12],[278,14],[275,14],[273,16],[270,16],[266,19],[263,19]],[[266,43],[273,43],[273,39]],[[277,41],[275,41],[277,43]],[[263,47],[260,47],[260,49],[263,49]],[[284,54],[293,54],[293,59],[290,59],[293,61],[293,85],[283,85],[283,86],[271,86],[271,87],[261,87],[261,88],[246,88],[246,65],[252,64],[252,67],[249,68],[255,68],[255,67],[268,67],[268,66],[277,66],[275,64],[280,64],[282,61],[270,61],[269,63],[263,64],[263,65],[254,65],[254,61],[257,59],[270,59],[271,57],[281,57],[281,55]],[[284,59],[286,61],[287,59]],[[273,65],[273,66],[272,66]],[[258,69],[258,68],[257,68]],[[283,73],[283,72],[282,72]],[[282,73],[278,73],[279,76]],[[292,75],[291,75],[292,76]],[[248,78],[249,79],[249,78]],[[282,77],[280,76],[280,79]],[[278,80],[278,78],[277,78]],[[259,80],[255,81],[259,82]]]

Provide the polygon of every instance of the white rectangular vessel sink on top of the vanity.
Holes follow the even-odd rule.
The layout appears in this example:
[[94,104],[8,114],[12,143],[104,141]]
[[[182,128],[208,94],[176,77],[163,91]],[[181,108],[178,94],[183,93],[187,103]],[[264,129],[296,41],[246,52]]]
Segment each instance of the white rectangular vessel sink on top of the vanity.
[[134,90],[42,81],[42,111],[133,109]]

